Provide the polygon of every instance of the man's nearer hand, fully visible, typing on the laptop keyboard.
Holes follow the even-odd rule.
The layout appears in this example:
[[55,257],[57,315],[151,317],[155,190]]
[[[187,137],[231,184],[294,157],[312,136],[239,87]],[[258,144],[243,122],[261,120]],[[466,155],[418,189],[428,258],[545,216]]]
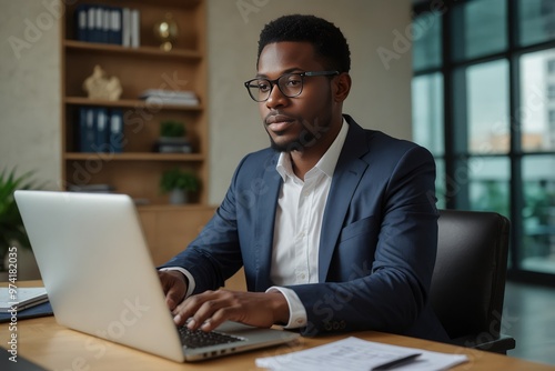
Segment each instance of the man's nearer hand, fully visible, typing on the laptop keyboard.
[[287,323],[289,305],[281,292],[206,291],[185,299],[172,311],[174,322],[211,331],[225,320],[259,328]]

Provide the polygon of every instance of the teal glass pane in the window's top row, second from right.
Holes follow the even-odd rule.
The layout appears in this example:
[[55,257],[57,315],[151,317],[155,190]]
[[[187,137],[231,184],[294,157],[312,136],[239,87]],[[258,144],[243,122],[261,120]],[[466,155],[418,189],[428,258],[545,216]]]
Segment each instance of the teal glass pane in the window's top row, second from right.
[[506,0],[476,0],[453,8],[453,57],[467,60],[507,48]]

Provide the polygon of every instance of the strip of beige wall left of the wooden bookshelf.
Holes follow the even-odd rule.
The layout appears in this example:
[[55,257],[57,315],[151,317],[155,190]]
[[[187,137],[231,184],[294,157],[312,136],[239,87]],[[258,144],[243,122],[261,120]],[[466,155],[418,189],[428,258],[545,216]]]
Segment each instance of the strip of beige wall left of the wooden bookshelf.
[[57,189],[60,14],[47,6],[52,2],[0,0],[0,169],[37,171]]

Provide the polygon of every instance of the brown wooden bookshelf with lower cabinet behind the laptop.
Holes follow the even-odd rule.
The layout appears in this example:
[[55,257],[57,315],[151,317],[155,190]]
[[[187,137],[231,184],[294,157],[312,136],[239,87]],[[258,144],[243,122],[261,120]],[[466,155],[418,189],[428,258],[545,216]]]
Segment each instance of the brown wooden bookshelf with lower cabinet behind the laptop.
[[[75,10],[81,4],[137,9],[140,12],[138,48],[78,40]],[[110,184],[117,193],[138,200],[139,217],[157,264],[186,247],[212,217],[208,204],[209,128],[206,93],[206,30],[203,0],[77,0],[63,3],[61,21],[61,162],[62,184]],[[153,33],[155,22],[171,12],[179,36],[171,51],[163,51]],[[100,66],[117,77],[122,94],[117,101],[91,100],[82,86]],[[148,89],[192,90],[195,106],[154,104],[140,99]],[[80,108],[123,111],[124,146],[121,153],[87,152],[79,147]],[[185,123],[192,153],[158,153],[153,150],[160,122]],[[182,168],[198,174],[201,190],[185,205],[169,204],[160,191],[164,170]]]

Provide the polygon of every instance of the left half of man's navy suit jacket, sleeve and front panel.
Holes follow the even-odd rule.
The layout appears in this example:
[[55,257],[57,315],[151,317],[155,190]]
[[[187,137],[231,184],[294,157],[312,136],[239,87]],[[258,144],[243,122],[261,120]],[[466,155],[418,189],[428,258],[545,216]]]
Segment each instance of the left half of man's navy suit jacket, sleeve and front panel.
[[[273,159],[273,151],[268,150],[246,156],[238,166],[215,214],[185,250],[160,268],[181,267],[188,270],[195,280],[193,293],[223,287],[225,280],[241,267],[244,267],[250,291],[264,291],[271,287],[265,275],[270,270],[261,264],[260,255],[271,252],[272,230],[258,228],[256,223],[264,218],[259,218],[256,213],[264,210],[264,217],[270,218],[271,207],[262,203],[272,204],[275,200],[268,197],[269,188],[263,182],[259,186],[260,174],[256,171],[265,173],[261,163]],[[280,182],[273,177],[272,182],[275,183],[272,187],[275,193]],[[263,202],[259,203],[259,200]]]

